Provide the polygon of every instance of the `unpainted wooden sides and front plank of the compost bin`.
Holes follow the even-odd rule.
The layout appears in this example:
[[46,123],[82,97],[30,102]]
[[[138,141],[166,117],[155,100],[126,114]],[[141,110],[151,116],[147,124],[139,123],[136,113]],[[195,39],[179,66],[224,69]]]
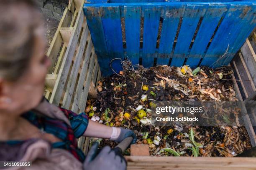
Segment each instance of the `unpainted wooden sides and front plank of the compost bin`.
[[[52,65],[49,68],[49,74],[46,76],[45,97],[51,103],[71,109],[74,112],[84,111],[88,94],[92,97],[97,95],[95,86],[97,86],[97,81],[101,78],[97,56],[95,55],[90,31],[88,30],[82,9],[83,4],[84,0],[69,0],[69,6],[64,11],[64,15],[61,18],[59,27],[47,52]],[[239,57],[239,60],[237,57]],[[253,78],[255,79],[255,63],[255,52],[250,42],[246,40],[241,51],[238,52],[236,58],[230,63],[236,72],[236,77],[233,76],[233,81],[235,84],[234,89],[239,100],[245,100],[247,97],[251,97],[248,94],[255,95],[255,82],[252,82]],[[241,67],[243,68],[241,69]],[[243,81],[245,78],[243,75],[245,73],[250,81]],[[236,80],[242,81],[238,81],[237,83]],[[248,89],[247,83],[249,83],[251,88]],[[253,93],[248,91],[251,89],[253,89]],[[245,117],[244,121],[246,122],[246,130],[250,136],[251,143],[255,146],[256,136],[251,120],[249,117]],[[87,153],[89,138],[79,138],[78,146],[84,153]],[[256,169],[256,158],[150,156],[125,156],[125,158],[128,162],[128,170]]]

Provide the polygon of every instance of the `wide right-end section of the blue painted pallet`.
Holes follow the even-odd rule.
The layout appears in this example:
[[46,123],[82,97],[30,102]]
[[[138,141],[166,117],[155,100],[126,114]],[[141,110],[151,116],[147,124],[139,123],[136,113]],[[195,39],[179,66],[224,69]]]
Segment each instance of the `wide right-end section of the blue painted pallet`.
[[[252,10],[248,10],[248,8],[252,8]],[[220,67],[224,64],[228,64],[224,63],[225,60],[227,60],[227,58],[230,60],[241,47],[237,46],[236,51],[232,51],[235,42],[237,42],[237,40],[241,41],[240,44],[242,45],[246,37],[248,37],[255,27],[256,22],[253,18],[255,18],[255,5],[230,4],[228,12],[220,24],[210,47],[207,49],[201,65]],[[251,24],[244,24],[248,23],[246,20]],[[243,39],[241,39],[241,37],[243,37]]]

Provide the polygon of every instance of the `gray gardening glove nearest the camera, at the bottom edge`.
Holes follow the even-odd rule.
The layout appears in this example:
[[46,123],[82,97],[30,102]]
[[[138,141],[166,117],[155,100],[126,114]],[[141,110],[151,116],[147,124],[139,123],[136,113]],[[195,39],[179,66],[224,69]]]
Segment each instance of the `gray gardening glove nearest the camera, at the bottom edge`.
[[126,160],[122,154],[105,146],[98,154],[99,143],[93,143],[86,159],[84,170],[126,170]]

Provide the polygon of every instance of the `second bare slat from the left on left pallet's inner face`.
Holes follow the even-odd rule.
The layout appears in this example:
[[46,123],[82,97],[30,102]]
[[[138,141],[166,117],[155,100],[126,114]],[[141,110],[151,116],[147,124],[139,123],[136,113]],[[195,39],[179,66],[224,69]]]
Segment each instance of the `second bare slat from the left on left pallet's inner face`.
[[79,66],[82,62],[82,57],[84,54],[84,48],[86,45],[88,34],[89,34],[89,29],[87,28],[87,23],[85,21],[84,30],[82,32],[81,40],[79,42],[79,46],[78,46],[78,50],[77,50],[78,52],[75,56],[74,64],[73,64],[71,74],[70,74],[71,76],[69,77],[66,93],[64,95],[64,99],[62,102],[62,107],[64,107],[64,108],[69,108],[69,105],[70,105],[70,102],[72,99],[72,95],[73,95],[74,88],[75,88],[74,82],[77,80],[78,71],[80,68]]

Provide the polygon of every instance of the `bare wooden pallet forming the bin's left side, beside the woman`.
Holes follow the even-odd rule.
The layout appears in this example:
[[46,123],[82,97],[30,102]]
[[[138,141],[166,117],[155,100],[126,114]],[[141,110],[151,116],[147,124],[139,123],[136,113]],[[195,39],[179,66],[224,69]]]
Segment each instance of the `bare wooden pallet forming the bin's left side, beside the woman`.
[[[88,93],[97,95],[95,84],[101,78],[83,4],[84,0],[69,0],[47,52],[52,64],[46,75],[45,97],[77,113],[84,112]],[[79,139],[82,149],[84,141],[84,137]]]

